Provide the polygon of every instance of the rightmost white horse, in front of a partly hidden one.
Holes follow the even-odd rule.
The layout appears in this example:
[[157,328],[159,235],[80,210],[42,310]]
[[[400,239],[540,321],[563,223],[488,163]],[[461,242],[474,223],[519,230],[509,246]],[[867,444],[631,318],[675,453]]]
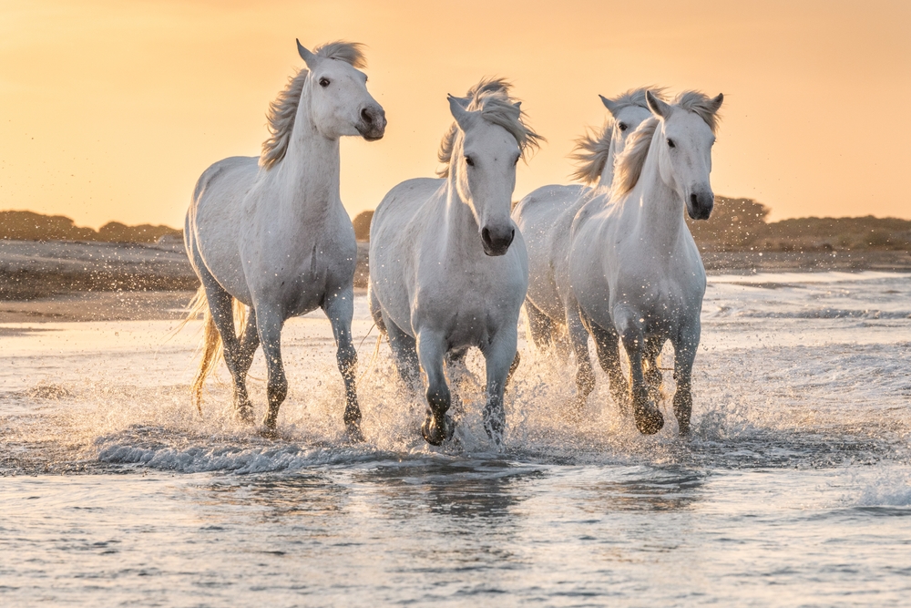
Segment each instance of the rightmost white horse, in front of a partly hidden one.
[[[627,386],[619,343],[626,349],[633,414],[644,434],[664,425],[652,395],[668,340],[677,383],[674,415],[681,435],[690,431],[705,269],[683,209],[693,220],[711,214],[711,146],[722,100],[688,91],[669,104],[648,93],[654,116],[630,137],[609,195],[586,203],[572,227],[569,281],[579,313],[615,395]],[[578,353],[581,345],[571,338]]]

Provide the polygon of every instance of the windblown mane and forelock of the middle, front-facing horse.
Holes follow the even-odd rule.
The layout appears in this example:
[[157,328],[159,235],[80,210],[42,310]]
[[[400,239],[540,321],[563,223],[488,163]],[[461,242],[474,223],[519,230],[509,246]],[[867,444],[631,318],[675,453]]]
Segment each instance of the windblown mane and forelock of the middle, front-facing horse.
[[[515,106],[518,99],[509,95],[512,85],[505,78],[482,78],[474,87],[468,89],[466,98],[469,99],[467,110],[481,112],[481,117],[487,122],[507,129],[509,134],[516,138],[519,150],[525,157],[526,149],[537,149],[544,138],[528,127],[526,113]],[[449,177],[449,163],[455,149],[455,139],[458,135],[458,125],[455,122],[446,131],[443,141],[440,142],[440,151],[437,158],[445,166],[437,170],[441,178]]]

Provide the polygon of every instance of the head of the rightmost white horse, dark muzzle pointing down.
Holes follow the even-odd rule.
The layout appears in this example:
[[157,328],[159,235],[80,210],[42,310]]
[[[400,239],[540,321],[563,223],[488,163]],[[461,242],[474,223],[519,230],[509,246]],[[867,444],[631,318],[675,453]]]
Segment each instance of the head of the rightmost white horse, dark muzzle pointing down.
[[721,94],[708,98],[687,91],[668,103],[651,91],[646,94],[649,109],[659,120],[652,145],[658,146],[661,180],[681,196],[693,220],[708,220],[714,204],[711,146],[723,99]]

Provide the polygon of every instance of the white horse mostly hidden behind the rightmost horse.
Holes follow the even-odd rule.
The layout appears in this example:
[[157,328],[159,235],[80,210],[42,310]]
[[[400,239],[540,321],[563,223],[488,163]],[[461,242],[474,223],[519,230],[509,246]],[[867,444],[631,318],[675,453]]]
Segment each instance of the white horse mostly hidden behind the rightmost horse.
[[[661,89],[653,89],[660,95]],[[528,333],[539,350],[555,347],[568,355],[566,335],[575,334],[577,351],[576,386],[578,407],[585,404],[595,386],[591,371],[585,327],[569,285],[569,231],[573,219],[592,197],[609,190],[614,179],[614,160],[623,151],[627,137],[651,116],[645,103],[645,88],[601,101],[612,117],[597,136],[578,140],[573,158],[578,170],[573,178],[594,187],[581,185],[543,186],[519,201],[512,217],[528,248],[528,294],[525,311]]]

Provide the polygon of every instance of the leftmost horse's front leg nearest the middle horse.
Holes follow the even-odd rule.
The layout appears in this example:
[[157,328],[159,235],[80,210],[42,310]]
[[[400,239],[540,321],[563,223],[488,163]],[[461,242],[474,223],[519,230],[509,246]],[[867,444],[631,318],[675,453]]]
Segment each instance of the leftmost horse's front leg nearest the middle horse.
[[322,303],[322,310],[329,317],[329,323],[333,325],[335,345],[338,347],[336,358],[344,380],[345,429],[353,441],[363,441],[361,408],[357,405],[357,350],[351,338],[351,322],[354,316],[353,288],[348,287],[335,294],[327,294]]

